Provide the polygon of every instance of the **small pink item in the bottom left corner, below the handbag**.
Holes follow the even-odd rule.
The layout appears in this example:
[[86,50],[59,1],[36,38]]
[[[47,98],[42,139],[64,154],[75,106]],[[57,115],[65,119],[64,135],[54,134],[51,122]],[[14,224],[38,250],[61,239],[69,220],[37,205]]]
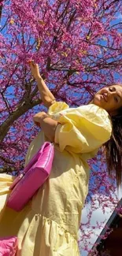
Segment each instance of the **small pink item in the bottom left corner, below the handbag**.
[[0,238],[0,256],[15,256],[17,253],[17,237]]

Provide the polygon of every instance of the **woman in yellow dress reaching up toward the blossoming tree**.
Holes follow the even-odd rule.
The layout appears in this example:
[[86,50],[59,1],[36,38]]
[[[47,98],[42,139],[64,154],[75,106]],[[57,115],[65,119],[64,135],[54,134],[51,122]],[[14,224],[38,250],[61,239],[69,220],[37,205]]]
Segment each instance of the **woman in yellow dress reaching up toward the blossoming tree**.
[[77,233],[89,181],[87,159],[103,144],[109,173],[115,169],[117,184],[121,181],[122,87],[105,87],[92,104],[69,109],[65,102],[55,101],[38,65],[30,66],[49,111],[33,117],[43,131],[31,142],[25,165],[46,140],[55,143],[54,164],[50,178],[19,213],[5,207],[13,178],[0,176],[0,236],[18,236],[17,256],[78,256]]

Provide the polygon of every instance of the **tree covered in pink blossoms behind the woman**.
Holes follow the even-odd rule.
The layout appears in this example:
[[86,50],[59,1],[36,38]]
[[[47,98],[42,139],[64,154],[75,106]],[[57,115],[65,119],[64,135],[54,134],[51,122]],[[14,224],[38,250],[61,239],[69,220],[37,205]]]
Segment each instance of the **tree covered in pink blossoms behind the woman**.
[[[100,87],[120,83],[121,8],[121,0],[0,1],[1,173],[24,168],[28,145],[38,132],[31,117],[44,109],[28,59],[39,63],[57,100],[70,106],[90,101]],[[96,207],[92,195],[98,195],[103,210],[103,193],[107,206],[116,203],[102,152],[90,164],[87,226]]]

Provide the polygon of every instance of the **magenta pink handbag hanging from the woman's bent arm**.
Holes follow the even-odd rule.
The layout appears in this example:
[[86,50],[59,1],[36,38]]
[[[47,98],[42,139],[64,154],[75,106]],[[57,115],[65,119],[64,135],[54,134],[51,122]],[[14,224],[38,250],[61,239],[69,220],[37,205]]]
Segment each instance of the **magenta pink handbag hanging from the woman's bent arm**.
[[35,195],[35,192],[50,175],[53,159],[54,144],[44,143],[43,147],[24,168],[24,173],[21,173],[13,181],[7,206],[17,211],[24,208],[25,204]]

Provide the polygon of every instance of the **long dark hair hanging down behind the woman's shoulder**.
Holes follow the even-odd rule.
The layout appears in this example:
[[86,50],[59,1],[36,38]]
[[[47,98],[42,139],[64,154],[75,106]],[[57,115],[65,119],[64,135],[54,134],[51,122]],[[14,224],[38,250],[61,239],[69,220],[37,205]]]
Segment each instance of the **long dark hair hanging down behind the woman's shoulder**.
[[116,185],[120,187],[122,181],[122,107],[118,109],[112,121],[112,135],[105,147],[105,158],[109,175],[116,173]]

